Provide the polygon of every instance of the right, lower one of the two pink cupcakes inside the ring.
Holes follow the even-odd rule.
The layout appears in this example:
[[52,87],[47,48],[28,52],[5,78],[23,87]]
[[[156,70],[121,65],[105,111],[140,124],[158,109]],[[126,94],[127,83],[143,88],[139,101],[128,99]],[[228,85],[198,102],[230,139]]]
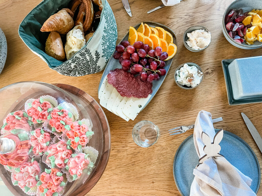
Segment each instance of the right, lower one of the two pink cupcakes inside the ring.
[[64,168],[72,154],[72,150],[63,141],[48,146],[47,151],[42,157],[42,161],[50,168]]

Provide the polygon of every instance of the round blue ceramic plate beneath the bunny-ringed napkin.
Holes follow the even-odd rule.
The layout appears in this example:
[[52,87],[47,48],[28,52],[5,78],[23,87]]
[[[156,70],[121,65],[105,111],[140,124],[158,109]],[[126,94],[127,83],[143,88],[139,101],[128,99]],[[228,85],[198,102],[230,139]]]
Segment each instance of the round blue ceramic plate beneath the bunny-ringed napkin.
[[[215,131],[217,132],[218,129]],[[253,180],[250,188],[257,193],[260,185],[260,166],[252,148],[240,137],[225,130],[220,146],[221,154]],[[173,163],[174,179],[182,196],[190,195],[190,187],[194,179],[193,170],[199,164],[198,160],[193,135],[190,135],[178,147]]]

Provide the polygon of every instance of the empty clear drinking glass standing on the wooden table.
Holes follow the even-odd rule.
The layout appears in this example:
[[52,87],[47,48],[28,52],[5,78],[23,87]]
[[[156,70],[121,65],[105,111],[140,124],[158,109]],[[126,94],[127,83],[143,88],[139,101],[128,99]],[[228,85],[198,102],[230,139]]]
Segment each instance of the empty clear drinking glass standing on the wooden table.
[[142,120],[135,124],[132,135],[138,146],[149,147],[159,140],[160,130],[154,123]]

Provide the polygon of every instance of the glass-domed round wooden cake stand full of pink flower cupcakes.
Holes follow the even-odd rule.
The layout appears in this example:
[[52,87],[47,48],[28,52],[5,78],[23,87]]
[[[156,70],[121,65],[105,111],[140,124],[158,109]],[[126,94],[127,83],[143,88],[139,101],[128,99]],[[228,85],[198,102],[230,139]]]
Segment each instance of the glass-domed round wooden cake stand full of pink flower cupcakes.
[[2,194],[88,193],[106,168],[111,146],[99,104],[76,87],[43,82],[8,85],[0,97]]

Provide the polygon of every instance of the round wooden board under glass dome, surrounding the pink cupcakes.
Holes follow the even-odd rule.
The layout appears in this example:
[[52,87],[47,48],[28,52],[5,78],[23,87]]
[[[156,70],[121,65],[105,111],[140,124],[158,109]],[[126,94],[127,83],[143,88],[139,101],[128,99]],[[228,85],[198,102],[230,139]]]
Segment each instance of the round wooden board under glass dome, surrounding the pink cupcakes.
[[[2,101],[0,102],[0,126],[2,126],[2,122],[6,119],[6,116],[9,115],[8,113],[23,110],[26,101],[29,99],[37,99],[47,95],[55,98],[59,105],[64,105],[64,108],[70,105],[71,107],[75,107],[79,114],[78,119],[85,118],[90,120],[94,135],[87,143],[87,146],[96,149],[98,157],[96,161],[94,161],[94,167],[87,176],[83,173],[84,175],[81,175],[79,179],[67,182],[62,195],[84,196],[88,193],[102,176],[110,154],[110,129],[105,113],[100,105],[84,91],[66,84],[52,85],[43,82],[19,82],[0,89],[0,95],[2,97]],[[34,129],[35,125],[36,124],[33,125]],[[48,169],[43,159],[42,161],[40,160],[39,163],[42,167]],[[11,170],[11,172],[13,172],[13,170]],[[10,175],[11,172],[6,170],[6,165],[0,164],[1,191],[6,193],[4,195],[27,196],[28,194],[23,192],[19,186],[13,185]]]

